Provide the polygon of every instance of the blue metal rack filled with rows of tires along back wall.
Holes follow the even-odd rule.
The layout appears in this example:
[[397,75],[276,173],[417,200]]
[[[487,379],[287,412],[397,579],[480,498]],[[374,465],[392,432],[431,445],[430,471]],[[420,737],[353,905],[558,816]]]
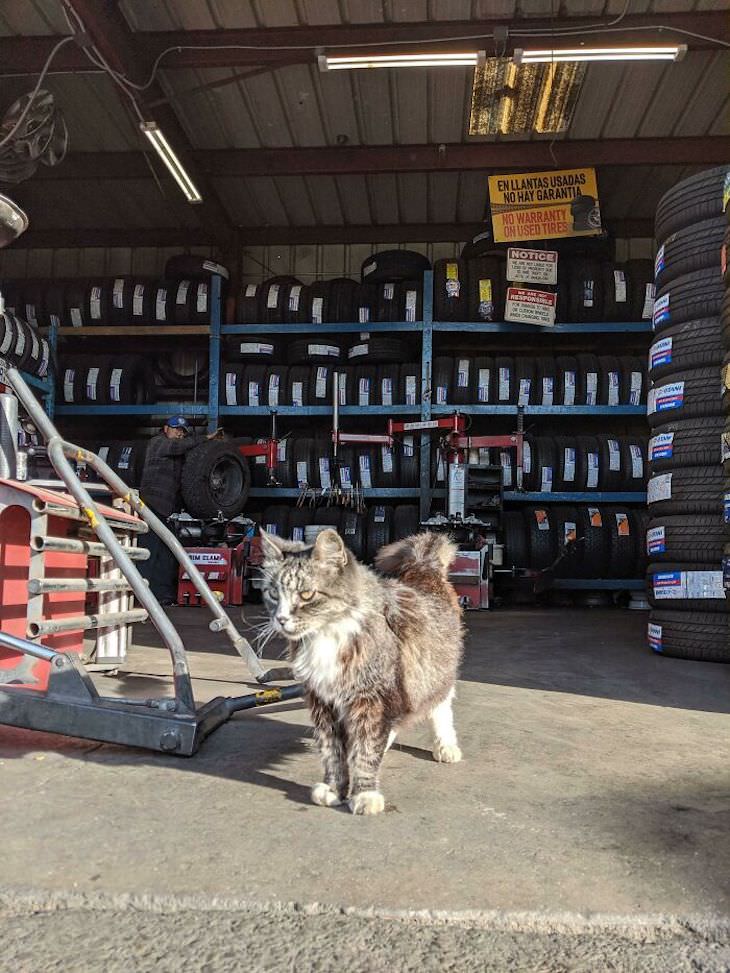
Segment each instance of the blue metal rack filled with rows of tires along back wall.
[[[525,489],[517,489],[509,451],[488,459],[503,472],[507,566],[544,568],[566,540],[585,536],[578,556],[556,571],[555,587],[643,587],[644,363],[651,330],[649,320],[639,319],[647,303],[643,283],[619,308],[612,290],[613,267],[618,265],[582,259],[572,265],[575,286],[569,290],[564,281],[558,300],[562,313],[578,321],[538,329],[492,320],[504,303],[504,262],[495,268],[493,257],[478,252],[468,256],[470,247],[461,259],[437,261],[433,270],[426,269],[425,258],[409,251],[375,254],[363,267],[363,285],[340,279],[305,287],[293,278],[248,285],[236,305],[239,323],[231,324],[222,324],[225,281],[215,273],[207,278],[206,321],[187,292],[187,302],[177,306],[180,281],[194,268],[183,267],[175,277],[168,268],[167,283],[157,283],[158,296],[148,315],[158,313],[160,288],[169,292],[165,320],[157,326],[153,320],[124,324],[126,315],[113,310],[115,288],[126,288],[120,291],[126,295],[124,303],[133,301],[133,281],[100,282],[109,324],[99,317],[93,287],[79,288],[82,314],[96,318],[94,323],[82,318],[79,326],[64,311],[57,329],[62,344],[56,413],[76,421],[182,413],[207,419],[209,429],[225,422],[229,432],[250,441],[268,433],[275,407],[280,436],[291,433],[283,439],[277,469],[277,479],[286,485],[268,486],[265,466],[252,463],[250,481],[248,474],[242,480],[251,498],[246,515],[295,537],[303,536],[310,524],[337,526],[365,557],[438,509],[444,497],[443,467],[435,439],[425,435],[404,437],[390,457],[380,450],[341,450],[332,464],[329,430],[336,369],[344,375],[340,414],[346,431],[384,432],[388,416],[428,420],[458,410],[469,417],[475,434],[507,433],[521,413],[527,433]],[[404,272],[409,260],[412,266]],[[394,263],[399,266],[395,282]],[[472,268],[479,275],[476,285]],[[482,274],[491,281],[491,301],[483,301]],[[623,272],[618,275],[624,279]],[[455,277],[460,278],[459,289]],[[590,289],[584,287],[586,277],[591,278]],[[594,300],[593,289],[593,279],[599,277],[606,295],[600,302]],[[459,291],[462,299],[450,300]],[[590,301],[576,298],[589,293]],[[487,314],[482,313],[485,303]],[[184,323],[191,307],[198,311],[196,323]],[[606,314],[616,320],[603,320]],[[173,335],[207,337],[205,367],[196,363],[200,382],[194,391],[188,387],[179,399],[160,401],[150,361],[155,342]],[[111,354],[115,337],[132,339],[136,354],[120,356],[117,349]],[[596,356],[596,341],[602,342],[602,351],[605,345],[615,353]],[[83,355],[77,351],[79,343]],[[96,351],[87,354],[89,347]],[[81,367],[74,367],[79,361]],[[119,370],[124,368],[127,381],[120,384]],[[194,401],[185,401],[191,396]],[[110,430],[111,443],[89,445],[105,451],[120,475],[137,485],[144,443],[118,441],[118,425]],[[221,444],[206,449],[221,449]],[[297,503],[302,470],[315,488],[310,495],[326,492],[338,481],[344,491],[357,484],[369,510],[361,515],[346,508],[302,509]]]

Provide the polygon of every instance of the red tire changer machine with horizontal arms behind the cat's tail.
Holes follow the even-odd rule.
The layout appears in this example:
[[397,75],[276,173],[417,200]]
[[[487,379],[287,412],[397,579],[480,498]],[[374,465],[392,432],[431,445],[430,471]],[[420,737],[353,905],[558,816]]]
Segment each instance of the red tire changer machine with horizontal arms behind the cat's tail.
[[[440,419],[415,422],[388,419],[385,435],[349,433],[340,429],[336,376],[333,386],[332,444],[335,456],[340,445],[360,443],[393,447],[400,433],[420,432],[424,436],[440,433],[439,450],[445,464],[444,513],[434,514],[422,505],[421,526],[428,530],[448,531],[454,536],[459,550],[451,565],[449,580],[459,594],[462,607],[489,608],[493,594],[493,567],[502,564],[503,555],[503,547],[497,543],[502,509],[502,469],[489,464],[471,464],[470,455],[485,449],[513,448],[516,452],[517,487],[521,489],[524,447],[522,411],[518,410],[517,413],[517,431],[502,436],[467,435],[467,417],[459,412]],[[486,516],[485,511],[489,511]]]

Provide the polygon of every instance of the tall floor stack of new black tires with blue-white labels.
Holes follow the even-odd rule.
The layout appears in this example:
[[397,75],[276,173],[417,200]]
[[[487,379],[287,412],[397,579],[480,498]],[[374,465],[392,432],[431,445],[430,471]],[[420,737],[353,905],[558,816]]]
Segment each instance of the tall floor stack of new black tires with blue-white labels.
[[[730,662],[721,453],[727,357],[724,393],[720,378],[721,308],[726,345],[730,324],[721,271],[727,172],[701,172],[659,202],[656,335],[649,351],[649,644],[664,655],[708,662]],[[724,465],[727,472],[727,459]]]

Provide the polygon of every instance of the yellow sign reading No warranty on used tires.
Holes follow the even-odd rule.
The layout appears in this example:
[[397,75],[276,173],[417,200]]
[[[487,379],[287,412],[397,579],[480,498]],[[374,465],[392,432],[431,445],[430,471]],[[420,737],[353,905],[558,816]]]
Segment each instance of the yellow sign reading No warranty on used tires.
[[601,232],[595,169],[490,176],[489,201],[497,243]]

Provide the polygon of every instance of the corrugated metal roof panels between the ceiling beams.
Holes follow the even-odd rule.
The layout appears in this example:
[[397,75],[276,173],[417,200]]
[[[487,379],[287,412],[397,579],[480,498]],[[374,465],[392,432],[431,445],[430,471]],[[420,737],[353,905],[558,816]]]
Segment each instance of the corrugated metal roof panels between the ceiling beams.
[[[277,27],[297,24],[474,20],[550,15],[554,0],[122,0],[139,30]],[[617,15],[623,0],[565,0],[565,16]],[[631,12],[724,10],[730,0],[634,0]],[[4,0],[0,34],[61,33],[58,0]],[[690,43],[691,46],[691,43]],[[727,52],[692,51],[672,64],[589,65],[565,138],[647,138],[727,134]],[[240,72],[238,72],[240,74]],[[162,71],[191,144],[200,149],[433,144],[467,141],[469,69],[321,74],[315,65],[282,67],[223,87],[232,69]],[[0,109],[31,81],[5,79]],[[204,87],[207,86],[207,87]],[[141,147],[113,83],[99,74],[53,75],[73,151]],[[200,89],[203,90],[200,90]],[[562,137],[562,136],[561,136]],[[674,166],[602,169],[608,219],[651,218],[661,191],[688,170]],[[471,222],[484,215],[481,173],[372,173],[341,176],[218,178],[233,222],[252,226],[393,225]],[[13,190],[37,227],[188,226],[194,210],[146,183],[30,180]]]

